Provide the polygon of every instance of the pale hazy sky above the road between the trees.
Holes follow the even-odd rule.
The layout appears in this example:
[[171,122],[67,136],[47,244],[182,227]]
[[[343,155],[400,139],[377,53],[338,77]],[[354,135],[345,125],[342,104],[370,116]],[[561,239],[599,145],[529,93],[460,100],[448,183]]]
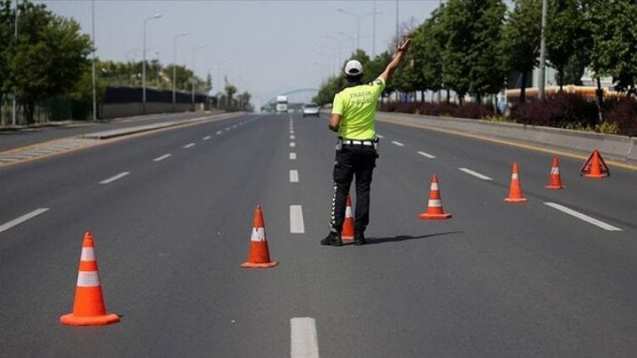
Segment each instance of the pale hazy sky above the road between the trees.
[[[57,15],[73,17],[92,33],[91,0],[39,0]],[[376,28],[376,53],[387,50],[399,24],[413,18],[422,23],[440,0],[349,1],[178,1],[95,0],[95,44],[103,60],[141,61],[144,18],[146,59],[185,64],[219,90],[224,75],[240,92],[252,94],[260,106],[281,92],[318,88],[357,45],[371,54]],[[374,26],[376,6],[376,26]],[[398,11],[397,11],[398,7]],[[351,14],[338,12],[341,8]],[[202,44],[205,47],[197,47]],[[339,57],[340,56],[340,57]],[[290,95],[308,101],[314,93]]]

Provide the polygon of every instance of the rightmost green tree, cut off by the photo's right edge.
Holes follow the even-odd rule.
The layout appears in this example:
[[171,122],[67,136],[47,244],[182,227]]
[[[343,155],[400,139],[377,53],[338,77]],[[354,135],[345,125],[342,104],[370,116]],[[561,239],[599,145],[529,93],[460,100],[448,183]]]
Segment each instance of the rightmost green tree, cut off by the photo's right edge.
[[590,0],[593,30],[591,67],[612,76],[615,88],[637,94],[637,3],[634,0]]

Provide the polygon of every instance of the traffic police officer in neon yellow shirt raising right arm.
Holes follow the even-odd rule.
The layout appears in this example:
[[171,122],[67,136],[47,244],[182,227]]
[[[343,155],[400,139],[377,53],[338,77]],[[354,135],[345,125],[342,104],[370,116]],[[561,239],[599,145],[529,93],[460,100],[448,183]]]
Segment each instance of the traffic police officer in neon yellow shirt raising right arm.
[[334,196],[330,229],[321,245],[340,247],[340,232],[345,220],[345,206],[352,179],[356,177],[356,213],[354,245],[367,243],[365,229],[369,223],[369,189],[378,157],[376,137],[377,102],[391,74],[403,59],[410,39],[397,46],[397,53],[376,80],[362,83],[363,65],[356,60],[345,64],[347,86],[334,96],[329,130],[338,132],[334,163]]

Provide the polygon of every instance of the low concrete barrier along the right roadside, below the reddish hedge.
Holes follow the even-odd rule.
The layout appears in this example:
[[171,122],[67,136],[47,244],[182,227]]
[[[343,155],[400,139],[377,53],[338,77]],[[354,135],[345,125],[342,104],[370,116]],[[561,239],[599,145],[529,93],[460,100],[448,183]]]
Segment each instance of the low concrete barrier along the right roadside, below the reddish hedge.
[[634,137],[536,127],[519,123],[430,117],[397,112],[378,112],[377,120],[416,125],[432,130],[459,131],[461,134],[511,140],[519,143],[541,144],[554,150],[566,150],[579,155],[586,155],[596,148],[609,159],[637,164],[637,139]]

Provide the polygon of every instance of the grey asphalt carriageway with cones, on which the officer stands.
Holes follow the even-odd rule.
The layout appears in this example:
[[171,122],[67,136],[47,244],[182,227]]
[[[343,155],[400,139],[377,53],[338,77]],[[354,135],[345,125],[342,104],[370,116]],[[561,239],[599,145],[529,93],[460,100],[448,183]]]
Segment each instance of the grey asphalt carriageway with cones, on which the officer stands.
[[[548,190],[551,155],[378,123],[370,245],[321,247],[326,121],[247,114],[1,169],[0,354],[634,356],[637,172],[561,158]],[[503,200],[514,160],[523,204]],[[417,218],[434,174],[448,220]],[[257,204],[270,269],[240,268]],[[118,324],[59,324],[85,231]]]

